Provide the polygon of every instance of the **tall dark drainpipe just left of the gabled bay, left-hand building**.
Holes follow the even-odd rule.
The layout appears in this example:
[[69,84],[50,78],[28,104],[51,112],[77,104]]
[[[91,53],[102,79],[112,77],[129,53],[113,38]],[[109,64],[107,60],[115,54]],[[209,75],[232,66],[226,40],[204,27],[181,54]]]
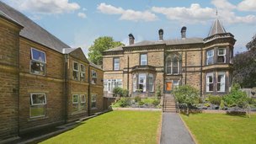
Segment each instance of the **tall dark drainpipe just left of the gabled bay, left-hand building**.
[[69,56],[65,56],[65,61],[64,61],[64,120],[65,123],[67,123],[67,114],[68,114],[68,61],[69,61]]

